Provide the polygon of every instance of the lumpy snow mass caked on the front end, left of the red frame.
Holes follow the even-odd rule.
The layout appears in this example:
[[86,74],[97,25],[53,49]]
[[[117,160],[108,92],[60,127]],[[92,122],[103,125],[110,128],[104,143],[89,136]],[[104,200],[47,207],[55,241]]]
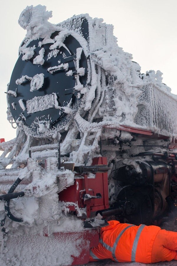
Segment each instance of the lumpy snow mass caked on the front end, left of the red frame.
[[[48,158],[46,164],[45,170],[39,166],[35,160],[28,159],[27,167],[17,172],[18,178],[22,180],[22,184],[28,184],[30,180],[32,180],[27,186],[18,186],[18,189],[20,189],[20,186],[23,186],[26,197],[15,199],[11,202],[11,211],[14,215],[17,215],[17,217],[20,213],[24,220],[22,225],[32,226],[36,224],[39,226],[38,230],[40,230],[41,226],[43,228],[43,223],[46,224],[47,220],[48,222],[53,222],[54,227],[56,227],[56,225],[59,226],[59,218],[65,215],[63,216],[60,203],[58,202],[58,192],[74,183],[74,174],[72,171],[57,171],[57,158]],[[0,186],[1,193],[3,189],[5,189],[7,193],[6,189],[8,189],[9,186],[7,186],[7,188],[6,186]],[[0,205],[1,211],[3,211],[4,204],[2,201]],[[1,215],[3,215],[3,213]],[[2,219],[2,216],[0,218]],[[6,225],[11,222],[11,220],[8,220]],[[80,224],[81,221],[73,221],[75,226],[77,223]],[[69,231],[73,231],[73,224],[71,224]],[[16,226],[18,227],[19,224],[16,223]]]

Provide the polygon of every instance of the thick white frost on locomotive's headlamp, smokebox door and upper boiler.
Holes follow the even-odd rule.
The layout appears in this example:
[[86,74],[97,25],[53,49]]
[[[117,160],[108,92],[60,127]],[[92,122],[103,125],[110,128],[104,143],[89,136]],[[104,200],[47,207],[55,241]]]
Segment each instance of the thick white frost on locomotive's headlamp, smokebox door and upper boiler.
[[[73,90],[78,92],[78,99],[83,96],[83,104],[77,111],[77,115],[81,114],[82,117],[85,111],[89,111],[88,121],[91,127],[93,120],[102,119],[104,121],[102,126],[107,124],[113,127],[126,125],[152,130],[171,137],[177,136],[177,125],[171,121],[171,117],[176,113],[177,99],[170,93],[171,89],[162,83],[162,73],[159,70],[157,73],[150,70],[146,74],[141,74],[140,66],[132,61],[132,55],[125,53],[117,45],[112,25],[106,25],[102,19],[91,19],[88,14],[81,14],[55,26],[47,21],[49,17],[51,17],[51,12],[47,12],[45,7],[30,6],[22,12],[19,24],[27,29],[28,38],[44,38],[39,42],[40,47],[43,43],[52,42],[47,60],[56,57],[62,46],[68,49],[63,42],[69,35],[72,35],[81,44],[81,47],[76,49],[76,73],[73,73],[71,69],[68,70],[67,63],[60,64],[60,62],[47,69],[50,74],[57,74],[63,69],[67,71],[67,76],[74,75],[76,84]],[[89,36],[87,38],[82,32],[85,20],[88,22]],[[55,30],[59,33],[51,40],[49,33],[51,34]],[[28,41],[20,48],[20,51],[28,59],[32,55],[34,47],[27,48],[27,44]],[[33,64],[44,64],[44,52],[44,48],[41,48],[39,55],[33,60]],[[70,53],[69,50],[68,52]],[[79,66],[82,52],[86,56],[89,55],[88,80],[85,87],[79,79],[85,74],[85,69]],[[21,84],[20,82],[25,82],[26,79],[28,77],[23,77],[17,82]],[[42,84],[42,79],[40,82]],[[41,85],[32,86],[31,91],[40,87]],[[160,98],[154,97],[159,93]],[[148,99],[147,95],[149,95]],[[37,112],[37,106],[34,108],[32,104],[32,110],[28,103],[27,106],[28,113]],[[50,106],[54,107],[54,104],[49,101],[48,108],[53,108]],[[63,131],[68,126],[68,119],[73,118],[75,113],[72,108],[57,106],[55,104],[55,108],[63,108],[64,112],[68,114],[66,120],[61,121],[57,128],[58,131]],[[40,110],[45,110],[41,104],[39,104],[38,111]],[[32,128],[23,123],[20,123],[20,126],[26,134],[37,137]],[[40,137],[51,136],[55,134],[55,128],[40,132]]]

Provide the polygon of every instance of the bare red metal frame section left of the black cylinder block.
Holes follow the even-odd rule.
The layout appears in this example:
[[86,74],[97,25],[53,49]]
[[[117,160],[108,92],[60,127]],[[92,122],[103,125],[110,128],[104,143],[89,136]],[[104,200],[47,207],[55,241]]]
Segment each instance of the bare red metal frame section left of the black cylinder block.
[[[93,158],[92,165],[107,165],[107,158]],[[84,194],[96,196],[97,193],[101,194],[101,199],[91,198],[84,201]],[[91,177],[87,174],[76,175],[74,184],[60,192],[58,196],[59,200],[67,202],[70,211],[78,213],[78,208],[86,208],[85,218],[93,217],[97,210],[109,208],[108,175],[107,173],[96,173]]]

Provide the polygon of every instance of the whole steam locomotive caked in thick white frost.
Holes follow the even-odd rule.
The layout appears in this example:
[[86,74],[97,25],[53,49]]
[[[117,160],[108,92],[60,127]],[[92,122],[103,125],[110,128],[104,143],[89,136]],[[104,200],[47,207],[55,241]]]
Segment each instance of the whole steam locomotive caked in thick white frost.
[[141,74],[102,19],[49,17],[40,5],[20,15],[17,137],[0,145],[1,260],[8,249],[21,265],[86,263],[100,218],[150,224],[176,199],[177,96],[162,73]]

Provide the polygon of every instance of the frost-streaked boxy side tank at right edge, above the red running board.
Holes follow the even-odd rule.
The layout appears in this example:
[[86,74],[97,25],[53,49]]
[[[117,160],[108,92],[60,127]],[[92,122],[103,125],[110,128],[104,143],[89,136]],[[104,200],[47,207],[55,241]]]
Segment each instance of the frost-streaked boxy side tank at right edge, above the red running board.
[[135,123],[159,134],[176,136],[177,98],[153,85],[143,86],[141,90]]

